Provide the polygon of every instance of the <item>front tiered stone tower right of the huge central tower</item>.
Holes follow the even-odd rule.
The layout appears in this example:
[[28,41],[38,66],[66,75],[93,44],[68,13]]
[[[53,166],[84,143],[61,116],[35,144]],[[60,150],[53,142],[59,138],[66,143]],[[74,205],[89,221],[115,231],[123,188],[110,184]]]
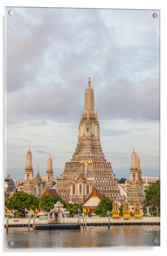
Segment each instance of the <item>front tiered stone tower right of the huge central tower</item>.
[[144,189],[141,178],[140,159],[138,157],[138,153],[135,153],[134,147],[131,154],[130,180],[126,181],[126,192],[127,200],[130,202],[130,204],[132,204],[134,207],[135,202],[140,202],[142,208]]

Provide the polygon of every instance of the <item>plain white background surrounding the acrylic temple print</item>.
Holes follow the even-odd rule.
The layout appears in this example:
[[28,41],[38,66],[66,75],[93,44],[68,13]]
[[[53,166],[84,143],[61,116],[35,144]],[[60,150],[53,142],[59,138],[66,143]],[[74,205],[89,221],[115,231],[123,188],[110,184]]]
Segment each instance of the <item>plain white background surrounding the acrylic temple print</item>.
[[[2,121],[1,125],[1,138],[0,138],[0,162],[2,163],[1,165],[1,177],[2,177],[2,184],[4,182],[4,70],[5,70],[5,65],[4,65],[4,57],[5,57],[5,42],[4,42],[4,7],[5,6],[27,6],[27,7],[80,7],[80,8],[113,8],[113,9],[152,9],[152,10],[160,10],[161,11],[161,247],[150,247],[150,248],[111,248],[111,249],[63,249],[63,250],[45,250],[45,249],[40,249],[40,250],[24,250],[21,251],[19,250],[20,253],[31,253],[31,254],[41,254],[48,251],[49,253],[56,253],[56,254],[66,254],[66,255],[72,255],[72,254],[79,254],[79,255],[89,255],[89,254],[97,254],[100,255],[102,251],[104,251],[106,254],[127,254],[128,255],[134,255],[138,256],[141,255],[142,253],[148,254],[157,254],[159,250],[160,253],[162,253],[162,250],[165,251],[165,243],[166,243],[166,222],[167,222],[167,202],[166,202],[166,186],[165,183],[167,182],[167,167],[166,167],[166,131],[167,131],[167,125],[166,125],[166,102],[167,102],[167,78],[166,78],[166,73],[167,73],[167,65],[166,60],[167,60],[167,34],[166,34],[166,26],[167,24],[167,8],[165,8],[165,0],[117,0],[117,1],[110,1],[110,0],[96,0],[96,1],[90,1],[90,0],[82,0],[82,1],[77,1],[77,0],[1,0],[0,1],[0,17],[1,17],[1,26],[0,26],[0,35],[1,35],[1,56],[2,60],[0,62],[1,68],[1,108],[0,108],[0,118]],[[4,190],[3,190],[3,185],[2,185],[2,196],[0,197],[2,199]],[[163,209],[164,208],[164,209]],[[1,222],[3,219],[3,199],[2,199],[2,204],[1,204]],[[166,214],[166,215],[165,215]],[[2,222],[3,223],[3,222]],[[3,230],[3,224],[2,224],[2,229]],[[3,232],[3,231],[2,231]],[[3,233],[2,233],[3,237]],[[4,246],[2,239],[1,241],[1,248]],[[4,251],[3,251],[4,252]],[[8,251],[6,252],[7,254],[15,254],[18,251]]]

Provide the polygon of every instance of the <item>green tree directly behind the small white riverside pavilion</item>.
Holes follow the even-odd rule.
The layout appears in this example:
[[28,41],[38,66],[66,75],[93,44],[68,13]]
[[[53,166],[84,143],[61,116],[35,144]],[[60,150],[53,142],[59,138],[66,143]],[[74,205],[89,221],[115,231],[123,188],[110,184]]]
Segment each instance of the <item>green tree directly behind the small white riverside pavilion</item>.
[[44,195],[39,201],[39,207],[47,212],[50,212],[50,209],[54,208],[54,204],[56,204],[57,201],[60,201],[61,204],[63,204],[64,208],[66,208],[67,203],[63,199],[61,199],[59,195],[54,194]]

